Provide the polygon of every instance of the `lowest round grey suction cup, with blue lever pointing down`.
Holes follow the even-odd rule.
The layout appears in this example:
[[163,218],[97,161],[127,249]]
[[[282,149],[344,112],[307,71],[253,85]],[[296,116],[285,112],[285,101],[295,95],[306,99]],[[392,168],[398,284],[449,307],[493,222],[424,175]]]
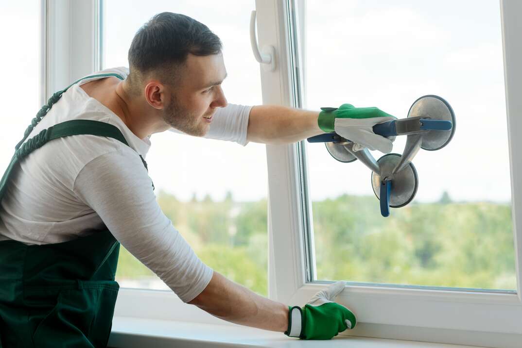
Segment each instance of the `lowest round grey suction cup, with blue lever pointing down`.
[[400,208],[413,200],[419,186],[419,177],[417,170],[412,163],[408,164],[404,169],[392,174],[395,166],[399,163],[401,155],[387,154],[377,160],[381,175],[372,172],[372,187],[375,196],[381,199],[381,184],[384,179],[391,179],[391,190],[389,192],[389,206],[392,208]]

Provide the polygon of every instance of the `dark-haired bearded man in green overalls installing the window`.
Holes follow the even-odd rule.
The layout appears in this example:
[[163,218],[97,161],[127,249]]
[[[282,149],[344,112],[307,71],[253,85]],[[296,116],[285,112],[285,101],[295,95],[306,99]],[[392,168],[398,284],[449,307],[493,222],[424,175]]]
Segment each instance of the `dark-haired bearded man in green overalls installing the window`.
[[344,282],[290,308],[203,264],[161,212],[145,156],[150,135],[165,130],[243,144],[336,131],[390,152],[372,126],[394,117],[349,104],[321,113],[228,105],[219,38],[179,14],[146,23],[128,58],[129,70],[53,95],[16,147],[0,185],[0,346],[105,346],[120,243],[184,302],[224,320],[302,339],[353,328],[354,314],[332,301]]

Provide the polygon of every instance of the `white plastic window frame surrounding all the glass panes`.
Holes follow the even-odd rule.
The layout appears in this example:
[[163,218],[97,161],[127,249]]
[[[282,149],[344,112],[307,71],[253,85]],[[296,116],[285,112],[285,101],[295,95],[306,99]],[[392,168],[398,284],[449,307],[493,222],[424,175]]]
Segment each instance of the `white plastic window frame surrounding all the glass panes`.
[[[43,61],[47,97],[99,69],[100,2],[42,0],[42,18],[46,23]],[[305,28],[299,26],[299,18],[304,12],[302,7],[298,10],[300,13],[292,20],[302,35]],[[256,0],[256,11],[259,46],[274,46],[277,61],[273,72],[260,68],[263,103],[299,106],[294,94],[299,86],[294,86],[293,77],[299,73],[302,63],[291,64],[292,59],[294,62],[298,59],[290,56],[287,2]],[[522,22],[517,20],[520,14],[522,3],[501,1],[517,294],[349,284],[337,301],[358,314],[359,325],[342,334],[495,347],[515,347],[522,341],[522,156],[514,151],[522,148],[522,137],[516,134],[516,130],[522,131],[522,98],[519,97],[522,95],[522,40],[519,39]],[[292,66],[297,69],[292,71]],[[306,213],[303,214],[311,208],[310,202],[303,200],[302,191],[307,182],[305,177],[301,178],[301,173],[306,173],[300,170],[301,166],[306,168],[306,164],[300,159],[300,146],[302,144],[266,146],[269,297],[296,305],[303,305],[325,286],[325,283],[307,282],[307,275],[315,272],[307,270],[305,265],[315,265],[315,262],[305,262],[310,255],[305,248],[313,248],[313,240],[310,241],[313,234],[305,233],[310,229],[307,225],[312,224],[305,219]],[[309,238],[308,244],[305,237]],[[226,324],[195,306],[184,304],[169,291],[121,289],[115,315]]]

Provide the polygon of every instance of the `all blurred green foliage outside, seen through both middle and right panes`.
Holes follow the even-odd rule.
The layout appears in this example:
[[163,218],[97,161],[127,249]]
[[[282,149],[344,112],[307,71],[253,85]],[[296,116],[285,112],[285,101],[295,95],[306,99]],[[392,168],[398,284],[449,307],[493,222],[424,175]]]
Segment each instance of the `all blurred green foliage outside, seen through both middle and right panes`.
[[[210,196],[180,202],[159,192],[158,202],[177,230],[210,267],[267,295],[267,201],[222,202]],[[511,206],[410,204],[379,214],[373,196],[341,195],[313,202],[317,279],[516,289]],[[118,279],[152,272],[124,248]]]

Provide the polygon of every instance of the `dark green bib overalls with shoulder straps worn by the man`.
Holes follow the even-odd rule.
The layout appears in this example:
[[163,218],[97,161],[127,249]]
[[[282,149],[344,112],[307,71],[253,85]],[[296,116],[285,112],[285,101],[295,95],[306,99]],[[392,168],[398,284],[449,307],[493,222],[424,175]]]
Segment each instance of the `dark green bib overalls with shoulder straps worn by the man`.
[[[84,79],[108,76],[123,80],[114,73]],[[18,162],[50,140],[92,134],[128,145],[118,128],[93,120],[58,123],[23,143],[69,87],[49,99],[16,146],[0,182],[0,202]],[[105,347],[120,288],[114,281],[119,250],[120,243],[107,229],[56,244],[1,241],[0,347]]]

